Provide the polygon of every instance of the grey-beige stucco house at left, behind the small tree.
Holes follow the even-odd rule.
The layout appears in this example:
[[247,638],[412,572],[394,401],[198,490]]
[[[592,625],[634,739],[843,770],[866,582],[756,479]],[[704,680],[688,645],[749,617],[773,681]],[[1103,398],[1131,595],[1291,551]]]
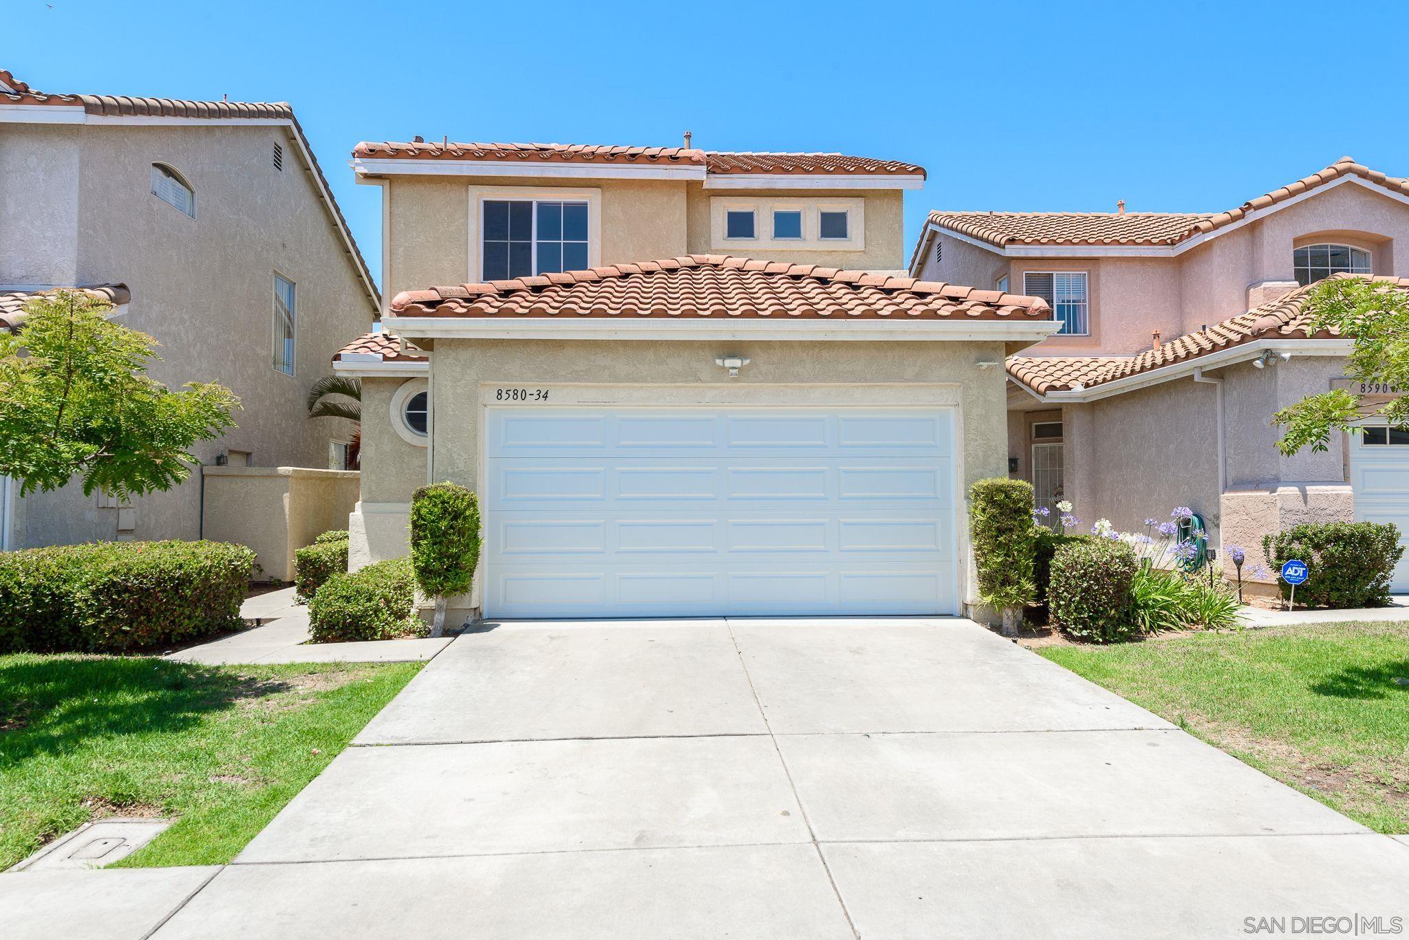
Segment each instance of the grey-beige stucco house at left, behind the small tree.
[[[354,428],[309,420],[304,397],[380,299],[287,104],[48,94],[0,70],[0,125],[7,327],[32,293],[100,286],[161,342],[152,378],[240,396],[201,464],[338,459]],[[7,548],[201,530],[200,472],[128,506],[0,483]]]

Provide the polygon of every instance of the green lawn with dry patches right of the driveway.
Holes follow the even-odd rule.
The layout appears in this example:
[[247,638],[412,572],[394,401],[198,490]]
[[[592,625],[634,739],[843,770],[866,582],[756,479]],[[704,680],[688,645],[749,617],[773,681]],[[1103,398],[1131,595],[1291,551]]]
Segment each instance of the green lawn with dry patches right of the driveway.
[[1409,833],[1409,624],[1038,653],[1371,829]]

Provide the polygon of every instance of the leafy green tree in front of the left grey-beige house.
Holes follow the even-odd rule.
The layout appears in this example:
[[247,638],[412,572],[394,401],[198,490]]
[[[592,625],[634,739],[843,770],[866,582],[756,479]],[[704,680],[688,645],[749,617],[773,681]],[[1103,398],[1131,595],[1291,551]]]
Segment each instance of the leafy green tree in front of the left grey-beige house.
[[234,427],[230,389],[173,392],[147,375],[156,340],[111,320],[113,304],[55,290],[25,304],[23,334],[0,331],[0,474],[21,493],[75,476],[118,499],[190,476],[196,441]]

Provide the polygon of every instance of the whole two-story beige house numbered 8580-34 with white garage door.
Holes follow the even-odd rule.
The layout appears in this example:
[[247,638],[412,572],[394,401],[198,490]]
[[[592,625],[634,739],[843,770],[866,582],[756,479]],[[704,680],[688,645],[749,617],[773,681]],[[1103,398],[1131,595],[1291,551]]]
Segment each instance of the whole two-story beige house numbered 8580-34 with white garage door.
[[354,567],[404,554],[411,492],[448,479],[479,492],[488,616],[972,600],[964,492],[1005,471],[1000,364],[1055,324],[890,273],[923,169],[447,142],[352,165],[385,187],[396,331],[334,364],[362,379]]

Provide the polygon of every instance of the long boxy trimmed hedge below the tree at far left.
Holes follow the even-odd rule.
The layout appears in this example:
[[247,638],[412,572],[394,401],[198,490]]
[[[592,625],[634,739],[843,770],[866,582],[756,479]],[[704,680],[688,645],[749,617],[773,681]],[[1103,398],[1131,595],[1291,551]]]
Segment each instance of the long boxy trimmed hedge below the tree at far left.
[[255,554],[216,541],[0,554],[0,653],[123,653],[240,627]]

